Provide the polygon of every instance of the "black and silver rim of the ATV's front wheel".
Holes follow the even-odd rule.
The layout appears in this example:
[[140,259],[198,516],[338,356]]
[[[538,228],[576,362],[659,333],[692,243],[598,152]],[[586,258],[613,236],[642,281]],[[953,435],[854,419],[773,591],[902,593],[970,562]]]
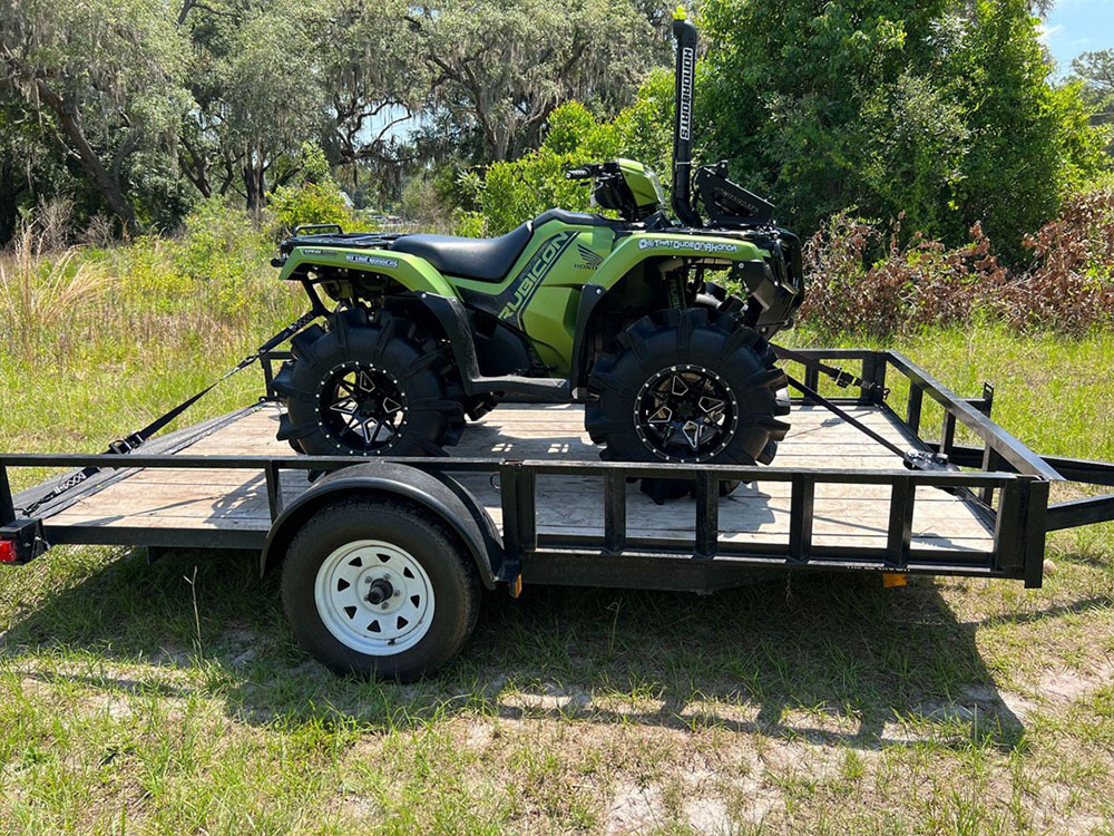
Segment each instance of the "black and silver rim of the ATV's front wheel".
[[727,383],[701,366],[671,366],[635,399],[642,443],[666,461],[707,461],[735,434],[739,409]]

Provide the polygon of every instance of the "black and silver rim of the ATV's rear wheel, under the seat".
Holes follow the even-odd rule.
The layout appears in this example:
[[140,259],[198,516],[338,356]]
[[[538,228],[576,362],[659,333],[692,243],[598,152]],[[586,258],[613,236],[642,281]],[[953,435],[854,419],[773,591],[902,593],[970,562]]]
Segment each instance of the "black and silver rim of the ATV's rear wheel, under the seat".
[[378,456],[390,451],[407,424],[399,381],[368,363],[333,369],[320,390],[321,428],[339,449]]

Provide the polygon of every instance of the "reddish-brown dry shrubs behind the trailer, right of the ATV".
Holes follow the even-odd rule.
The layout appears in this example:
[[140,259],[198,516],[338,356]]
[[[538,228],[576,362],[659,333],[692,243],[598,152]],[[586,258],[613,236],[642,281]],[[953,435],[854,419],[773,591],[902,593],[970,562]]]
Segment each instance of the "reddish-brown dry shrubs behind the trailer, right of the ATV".
[[801,320],[829,333],[887,336],[970,322],[978,312],[1019,329],[1079,334],[1114,322],[1114,192],[1071,198],[1061,217],[1026,236],[1033,261],[1008,271],[980,224],[949,249],[919,233],[836,215],[804,247]]

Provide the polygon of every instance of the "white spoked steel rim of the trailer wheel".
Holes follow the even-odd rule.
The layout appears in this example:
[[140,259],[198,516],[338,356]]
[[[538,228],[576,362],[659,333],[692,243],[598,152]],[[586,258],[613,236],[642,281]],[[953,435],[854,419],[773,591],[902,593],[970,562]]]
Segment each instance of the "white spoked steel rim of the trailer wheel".
[[383,657],[414,647],[433,623],[433,584],[412,554],[380,539],[333,551],[313,600],[325,629],[352,650]]

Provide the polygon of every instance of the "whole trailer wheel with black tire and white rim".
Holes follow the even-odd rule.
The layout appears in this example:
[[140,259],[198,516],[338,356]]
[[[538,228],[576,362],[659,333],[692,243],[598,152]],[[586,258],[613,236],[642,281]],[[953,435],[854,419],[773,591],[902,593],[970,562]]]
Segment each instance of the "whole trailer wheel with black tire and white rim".
[[282,599],[294,635],[331,670],[411,682],[468,640],[480,582],[428,513],[369,497],[329,505],[302,525]]

